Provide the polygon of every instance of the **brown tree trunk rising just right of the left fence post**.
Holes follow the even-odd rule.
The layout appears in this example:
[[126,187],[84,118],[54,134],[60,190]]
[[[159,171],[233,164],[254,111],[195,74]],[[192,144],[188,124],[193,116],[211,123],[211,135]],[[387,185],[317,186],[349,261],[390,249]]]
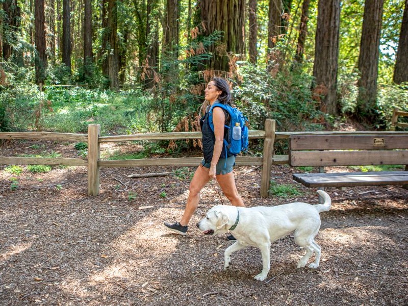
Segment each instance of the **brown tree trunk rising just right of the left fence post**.
[[108,29],[109,29],[109,87],[112,90],[119,89],[119,59],[118,59],[118,35],[117,35],[117,6],[116,0],[108,1]]

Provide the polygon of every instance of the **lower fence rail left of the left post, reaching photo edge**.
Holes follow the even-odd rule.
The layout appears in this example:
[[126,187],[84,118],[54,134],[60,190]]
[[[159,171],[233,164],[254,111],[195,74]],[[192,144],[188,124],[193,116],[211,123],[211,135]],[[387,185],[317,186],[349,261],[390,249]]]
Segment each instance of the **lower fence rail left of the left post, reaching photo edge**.
[[39,157],[0,157],[0,164],[5,165],[64,165],[86,166],[88,161],[79,158],[39,158]]

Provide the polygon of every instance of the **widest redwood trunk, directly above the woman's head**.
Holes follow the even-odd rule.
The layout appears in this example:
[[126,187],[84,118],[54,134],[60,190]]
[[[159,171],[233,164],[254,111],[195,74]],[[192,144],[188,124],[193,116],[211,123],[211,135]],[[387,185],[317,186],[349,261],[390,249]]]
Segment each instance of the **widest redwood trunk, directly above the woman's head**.
[[244,9],[243,0],[201,0],[201,20],[207,34],[218,30],[223,35],[220,44],[210,49],[214,53],[209,63],[210,69],[229,71],[231,67],[227,53],[244,53]]

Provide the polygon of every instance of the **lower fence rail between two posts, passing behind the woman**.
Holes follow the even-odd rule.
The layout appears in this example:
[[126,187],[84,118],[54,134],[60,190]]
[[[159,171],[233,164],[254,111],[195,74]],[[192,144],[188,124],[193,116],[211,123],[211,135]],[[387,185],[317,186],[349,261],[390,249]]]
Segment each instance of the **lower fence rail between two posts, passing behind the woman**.
[[[167,167],[195,167],[200,164],[202,157],[186,158],[157,158],[140,160],[102,160],[99,161],[99,167],[148,167],[148,166],[167,166]],[[240,157],[235,160],[237,166],[262,166],[262,157]]]

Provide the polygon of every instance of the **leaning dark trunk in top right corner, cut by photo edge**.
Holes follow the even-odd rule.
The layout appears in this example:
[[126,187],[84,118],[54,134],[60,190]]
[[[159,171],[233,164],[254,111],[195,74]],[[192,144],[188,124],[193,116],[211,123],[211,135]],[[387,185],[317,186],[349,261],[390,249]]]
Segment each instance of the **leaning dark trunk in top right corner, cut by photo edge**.
[[394,67],[394,83],[408,82],[408,0],[405,0],[404,15],[402,17],[401,32],[397,60]]

